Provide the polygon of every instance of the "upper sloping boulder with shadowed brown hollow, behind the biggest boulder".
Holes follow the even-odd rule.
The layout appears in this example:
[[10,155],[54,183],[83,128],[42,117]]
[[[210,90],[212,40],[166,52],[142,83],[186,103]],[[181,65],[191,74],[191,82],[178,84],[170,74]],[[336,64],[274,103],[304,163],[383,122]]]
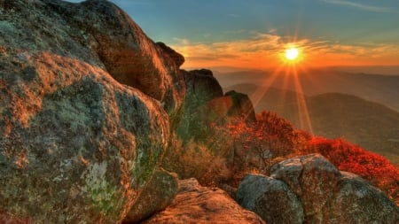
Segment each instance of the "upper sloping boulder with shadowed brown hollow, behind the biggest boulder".
[[185,92],[181,62],[176,64],[166,47],[149,39],[116,5],[102,0],[4,0],[0,7],[5,18],[0,44],[102,67],[116,81],[159,100],[168,114],[179,111]]

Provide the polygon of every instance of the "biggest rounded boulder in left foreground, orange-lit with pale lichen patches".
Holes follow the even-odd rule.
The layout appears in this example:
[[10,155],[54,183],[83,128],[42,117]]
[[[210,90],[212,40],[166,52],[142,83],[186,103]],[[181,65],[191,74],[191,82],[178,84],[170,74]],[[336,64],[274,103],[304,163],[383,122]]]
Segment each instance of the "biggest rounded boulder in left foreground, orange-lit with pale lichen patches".
[[0,211],[32,222],[118,222],[159,165],[159,102],[74,58],[1,58]]

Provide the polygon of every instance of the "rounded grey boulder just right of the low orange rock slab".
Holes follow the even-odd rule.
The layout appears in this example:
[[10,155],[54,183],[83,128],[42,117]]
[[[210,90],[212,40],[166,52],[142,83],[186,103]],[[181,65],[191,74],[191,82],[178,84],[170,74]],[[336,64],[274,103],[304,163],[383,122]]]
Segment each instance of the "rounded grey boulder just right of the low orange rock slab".
[[248,174],[237,190],[239,205],[262,217],[266,223],[303,223],[301,201],[285,182]]

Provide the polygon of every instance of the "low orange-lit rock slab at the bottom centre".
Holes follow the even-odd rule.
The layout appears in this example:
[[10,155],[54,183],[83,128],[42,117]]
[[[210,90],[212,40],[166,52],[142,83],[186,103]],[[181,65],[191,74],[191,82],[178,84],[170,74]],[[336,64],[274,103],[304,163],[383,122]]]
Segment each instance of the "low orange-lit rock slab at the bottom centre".
[[179,182],[175,200],[144,223],[264,223],[246,211],[222,189],[201,187],[195,179]]

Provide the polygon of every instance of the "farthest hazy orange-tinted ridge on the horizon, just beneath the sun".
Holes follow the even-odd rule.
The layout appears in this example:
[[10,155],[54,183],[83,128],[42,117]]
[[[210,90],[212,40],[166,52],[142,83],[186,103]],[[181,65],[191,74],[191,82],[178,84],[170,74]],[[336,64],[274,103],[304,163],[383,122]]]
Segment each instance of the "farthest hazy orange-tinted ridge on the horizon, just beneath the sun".
[[[224,88],[241,83],[288,89],[301,92],[295,87],[292,74],[253,70],[219,72],[215,77]],[[327,69],[300,71],[298,80],[303,94],[315,96],[325,93],[344,93],[371,100],[399,112],[399,76],[365,73],[344,73]]]

